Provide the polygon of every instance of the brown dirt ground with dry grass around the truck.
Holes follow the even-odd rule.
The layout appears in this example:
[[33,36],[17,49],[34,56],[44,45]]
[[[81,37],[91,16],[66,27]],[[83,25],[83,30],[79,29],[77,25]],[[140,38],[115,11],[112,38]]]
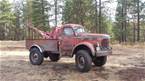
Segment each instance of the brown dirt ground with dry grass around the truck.
[[25,41],[0,41],[0,81],[145,81],[145,44],[113,45],[104,67],[80,73],[74,58],[58,62],[45,59],[42,65],[29,62]]

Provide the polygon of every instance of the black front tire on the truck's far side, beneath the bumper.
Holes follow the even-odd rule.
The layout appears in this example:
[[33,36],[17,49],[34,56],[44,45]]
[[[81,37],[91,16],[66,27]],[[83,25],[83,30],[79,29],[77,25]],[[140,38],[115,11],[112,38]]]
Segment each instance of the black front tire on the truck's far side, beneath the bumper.
[[107,56],[101,56],[101,57],[95,57],[93,59],[93,63],[95,64],[95,66],[103,66],[106,64],[107,61]]

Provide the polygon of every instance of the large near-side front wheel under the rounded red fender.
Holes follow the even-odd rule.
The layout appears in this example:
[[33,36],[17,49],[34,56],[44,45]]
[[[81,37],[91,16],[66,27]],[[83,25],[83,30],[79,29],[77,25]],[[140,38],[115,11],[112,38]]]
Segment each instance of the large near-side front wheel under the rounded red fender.
[[92,58],[86,50],[79,50],[76,53],[75,62],[80,72],[88,72],[92,67]]

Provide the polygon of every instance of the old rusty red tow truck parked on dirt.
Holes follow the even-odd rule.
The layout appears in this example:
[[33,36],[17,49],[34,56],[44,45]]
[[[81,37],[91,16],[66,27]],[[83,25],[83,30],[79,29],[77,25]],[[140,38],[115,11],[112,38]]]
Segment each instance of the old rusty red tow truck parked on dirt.
[[76,68],[80,72],[88,72],[92,63],[103,66],[107,56],[112,53],[109,35],[87,33],[78,24],[64,24],[53,28],[50,33],[31,26],[29,28],[43,36],[43,39],[26,40],[26,47],[30,51],[29,59],[33,65],[42,64],[47,57],[56,62],[62,56],[75,56]]

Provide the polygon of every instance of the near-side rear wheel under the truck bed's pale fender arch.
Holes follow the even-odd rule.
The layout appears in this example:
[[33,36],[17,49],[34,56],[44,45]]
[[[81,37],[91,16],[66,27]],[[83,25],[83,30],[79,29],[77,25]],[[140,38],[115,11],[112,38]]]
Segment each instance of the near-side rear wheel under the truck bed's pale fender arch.
[[37,48],[32,48],[29,55],[30,63],[33,65],[40,65],[43,63],[43,55]]

